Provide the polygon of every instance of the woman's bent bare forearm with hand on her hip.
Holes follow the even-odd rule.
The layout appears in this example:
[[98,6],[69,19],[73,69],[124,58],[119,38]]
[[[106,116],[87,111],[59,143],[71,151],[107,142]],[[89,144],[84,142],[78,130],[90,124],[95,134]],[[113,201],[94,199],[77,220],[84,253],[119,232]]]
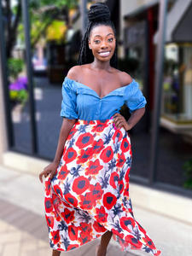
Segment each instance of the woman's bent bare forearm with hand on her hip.
[[137,122],[143,117],[144,113],[145,113],[145,107],[136,109],[131,113],[131,117],[130,119],[128,119],[128,121],[126,121],[125,117],[123,117],[121,114],[114,113],[113,114],[114,125],[117,129],[123,126],[125,131],[131,130],[131,128],[134,125],[136,125]]

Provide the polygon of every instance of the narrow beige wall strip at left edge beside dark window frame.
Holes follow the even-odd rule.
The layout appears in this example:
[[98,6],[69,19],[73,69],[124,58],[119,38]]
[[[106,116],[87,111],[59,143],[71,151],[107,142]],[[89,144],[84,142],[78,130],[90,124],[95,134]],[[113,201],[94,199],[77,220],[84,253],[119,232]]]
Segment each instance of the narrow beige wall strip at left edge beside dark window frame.
[[5,109],[3,102],[3,81],[0,68],[0,164],[3,163],[3,152],[8,150],[6,124],[5,124]]

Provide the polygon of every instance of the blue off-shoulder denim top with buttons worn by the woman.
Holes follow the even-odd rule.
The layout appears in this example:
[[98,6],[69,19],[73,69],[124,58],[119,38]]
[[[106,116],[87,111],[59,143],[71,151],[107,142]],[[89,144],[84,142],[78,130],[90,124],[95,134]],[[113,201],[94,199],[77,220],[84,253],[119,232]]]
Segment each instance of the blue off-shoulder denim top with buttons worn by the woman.
[[65,78],[62,84],[61,117],[82,120],[106,120],[119,113],[125,104],[130,113],[146,105],[139,84],[133,79],[101,98],[95,90],[73,79]]

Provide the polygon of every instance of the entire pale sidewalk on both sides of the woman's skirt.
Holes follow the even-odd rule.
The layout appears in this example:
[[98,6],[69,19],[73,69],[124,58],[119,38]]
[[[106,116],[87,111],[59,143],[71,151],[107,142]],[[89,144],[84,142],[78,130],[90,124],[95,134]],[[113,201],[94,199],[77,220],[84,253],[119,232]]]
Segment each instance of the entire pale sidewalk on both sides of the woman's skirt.
[[[130,183],[131,195],[131,183]],[[192,225],[134,206],[134,216],[148,232],[162,256],[192,255]],[[178,205],[179,207],[179,205]],[[49,256],[44,219],[44,185],[37,175],[0,166],[0,256]],[[66,256],[94,256],[99,239]],[[149,255],[140,251],[122,253],[113,239],[107,256]],[[64,253],[61,253],[64,255]]]

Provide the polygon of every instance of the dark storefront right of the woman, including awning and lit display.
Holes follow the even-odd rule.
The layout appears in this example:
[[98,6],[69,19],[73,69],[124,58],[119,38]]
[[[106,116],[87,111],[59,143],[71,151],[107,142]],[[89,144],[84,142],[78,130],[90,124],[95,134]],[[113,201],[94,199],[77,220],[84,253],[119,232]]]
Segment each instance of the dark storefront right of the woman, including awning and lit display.
[[[122,17],[124,52],[139,62],[135,78],[146,96],[147,111],[131,134],[133,180],[148,183],[151,177],[155,75],[158,67],[159,1],[148,1]],[[165,188],[189,188],[186,165],[192,157],[192,1],[168,1],[163,84],[158,124],[158,155],[154,180]],[[159,63],[160,64],[160,63]],[[162,62],[161,62],[162,64]],[[146,116],[148,117],[146,119]],[[159,116],[159,115],[158,115]],[[147,130],[143,129],[146,125]],[[135,127],[134,127],[135,128]]]

